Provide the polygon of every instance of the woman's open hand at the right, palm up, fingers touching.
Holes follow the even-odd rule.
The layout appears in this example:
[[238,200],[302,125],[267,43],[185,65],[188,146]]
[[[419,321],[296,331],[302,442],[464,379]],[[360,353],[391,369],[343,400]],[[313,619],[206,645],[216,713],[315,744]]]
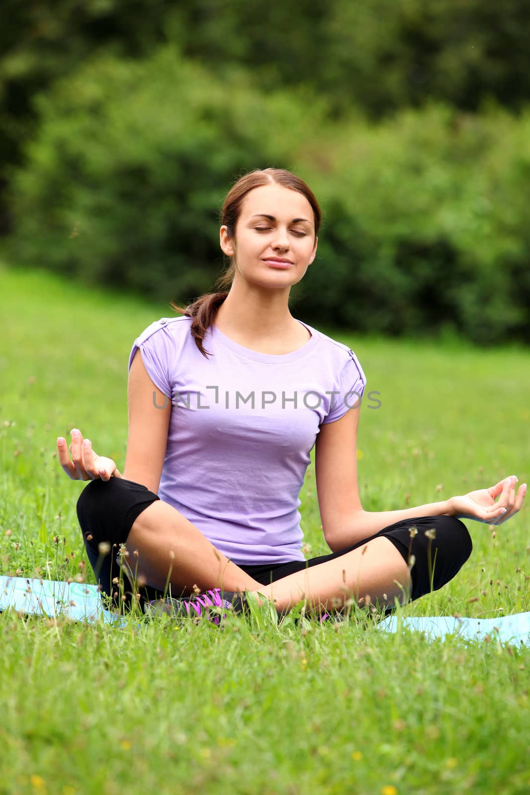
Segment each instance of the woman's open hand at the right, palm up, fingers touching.
[[[512,475],[489,489],[478,489],[460,497],[451,497],[447,500],[449,511],[458,519],[474,519],[475,522],[485,522],[486,525],[501,525],[508,522],[523,504],[526,483],[519,487],[517,493],[516,483],[517,478]],[[499,494],[501,497],[495,502]]]

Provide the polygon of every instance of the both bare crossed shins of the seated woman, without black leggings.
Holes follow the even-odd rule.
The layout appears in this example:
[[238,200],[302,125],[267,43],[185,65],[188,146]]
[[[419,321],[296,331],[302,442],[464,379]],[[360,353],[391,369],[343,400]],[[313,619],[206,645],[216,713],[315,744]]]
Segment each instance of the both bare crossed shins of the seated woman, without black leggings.
[[[378,537],[362,548],[335,560],[304,568],[269,585],[253,580],[217,549],[177,510],[161,500],[138,515],[126,540],[127,560],[137,564],[137,576],[163,591],[167,582],[173,593],[223,588],[253,591],[272,599],[280,612],[300,599],[308,607],[342,605],[369,595],[373,603],[394,605],[394,597],[408,599],[411,577],[404,558],[388,538]],[[135,556],[137,551],[137,557]],[[132,561],[132,562],[131,562]]]

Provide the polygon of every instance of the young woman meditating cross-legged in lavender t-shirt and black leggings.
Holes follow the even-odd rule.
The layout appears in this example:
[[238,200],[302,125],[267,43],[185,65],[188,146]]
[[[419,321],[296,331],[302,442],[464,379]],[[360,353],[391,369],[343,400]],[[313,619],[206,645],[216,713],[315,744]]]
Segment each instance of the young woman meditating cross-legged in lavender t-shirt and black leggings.
[[[222,291],[172,304],[184,314],[134,340],[123,475],[79,430],[72,460],[57,440],[67,475],[92,480],[77,514],[105,594],[118,597],[125,560],[144,584],[132,595],[142,605],[169,584],[182,597],[177,611],[200,613],[242,591],[280,613],[300,599],[318,612],[350,598],[390,611],[396,597],[418,599],[462,567],[472,544],[461,518],[499,525],[520,510],[526,484],[516,494],[515,476],[416,508],[363,510],[356,437],[365,374],[354,351],[288,308],[315,259],[320,219],[292,173],[242,176],[222,207],[230,258]],[[331,554],[305,560],[298,495],[314,445]]]

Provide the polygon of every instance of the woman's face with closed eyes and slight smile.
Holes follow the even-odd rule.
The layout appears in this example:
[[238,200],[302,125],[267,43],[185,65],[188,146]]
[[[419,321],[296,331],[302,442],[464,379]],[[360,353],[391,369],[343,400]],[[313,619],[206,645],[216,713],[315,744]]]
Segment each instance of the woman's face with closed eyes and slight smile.
[[[315,259],[313,211],[303,194],[276,183],[253,188],[242,201],[235,238],[220,229],[221,248],[234,257],[236,277],[264,287],[290,287]],[[279,267],[276,259],[285,260]]]

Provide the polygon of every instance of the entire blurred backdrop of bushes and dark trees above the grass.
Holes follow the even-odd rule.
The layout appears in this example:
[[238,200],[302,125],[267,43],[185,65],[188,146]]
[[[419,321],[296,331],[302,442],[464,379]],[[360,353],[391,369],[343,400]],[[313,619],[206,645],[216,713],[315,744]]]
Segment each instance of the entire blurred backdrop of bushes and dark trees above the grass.
[[530,343],[524,0],[3,0],[0,41],[4,266],[191,301],[275,166],[324,214],[294,316]]

